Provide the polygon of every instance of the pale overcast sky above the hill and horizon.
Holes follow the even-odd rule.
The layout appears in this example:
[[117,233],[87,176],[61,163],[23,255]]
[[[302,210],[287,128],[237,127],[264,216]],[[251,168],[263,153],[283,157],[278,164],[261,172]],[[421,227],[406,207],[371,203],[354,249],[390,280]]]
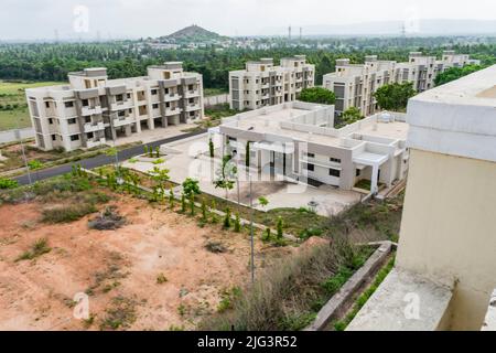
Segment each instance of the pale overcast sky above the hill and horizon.
[[[0,40],[159,36],[196,23],[225,35],[289,24],[421,19],[496,20],[495,0],[0,0]],[[86,10],[87,9],[87,10]],[[87,21],[86,21],[87,19]],[[280,33],[282,34],[282,33]]]

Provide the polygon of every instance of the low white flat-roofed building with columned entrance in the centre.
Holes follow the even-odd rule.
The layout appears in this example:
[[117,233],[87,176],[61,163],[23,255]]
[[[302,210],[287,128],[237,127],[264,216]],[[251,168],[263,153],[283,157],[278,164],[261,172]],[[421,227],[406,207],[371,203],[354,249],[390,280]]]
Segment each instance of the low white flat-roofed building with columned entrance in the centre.
[[[229,153],[261,178],[328,184],[351,190],[365,179],[376,193],[406,176],[408,125],[401,115],[378,114],[334,129],[334,106],[291,101],[223,119]],[[227,143],[228,141],[228,143]]]

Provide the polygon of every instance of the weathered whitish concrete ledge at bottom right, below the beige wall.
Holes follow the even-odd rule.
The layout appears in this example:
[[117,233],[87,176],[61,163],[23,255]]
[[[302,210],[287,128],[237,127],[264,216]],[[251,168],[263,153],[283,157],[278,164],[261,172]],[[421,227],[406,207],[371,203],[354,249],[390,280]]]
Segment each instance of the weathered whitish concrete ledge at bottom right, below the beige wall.
[[434,331],[442,329],[452,288],[395,268],[346,331]]

